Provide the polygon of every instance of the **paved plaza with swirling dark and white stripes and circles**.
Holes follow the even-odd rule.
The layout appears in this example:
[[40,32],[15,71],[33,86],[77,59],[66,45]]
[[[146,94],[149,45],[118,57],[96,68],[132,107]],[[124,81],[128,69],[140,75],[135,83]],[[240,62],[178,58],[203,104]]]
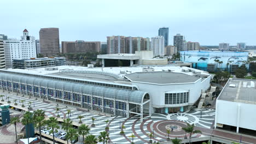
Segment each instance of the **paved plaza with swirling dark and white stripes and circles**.
[[[132,116],[130,118],[121,117],[121,116],[113,116],[107,117],[103,115],[96,115],[90,112],[78,111],[75,106],[67,106],[63,104],[51,102],[46,103],[42,99],[36,100],[36,98],[28,96],[22,97],[21,95],[16,95],[16,93],[8,93],[8,92],[0,92],[0,95],[4,95],[4,102],[7,103],[8,97],[11,104],[14,104],[14,100],[16,99],[16,103],[18,106],[22,105],[21,100],[24,100],[25,108],[27,108],[30,104],[32,106],[32,110],[42,109],[45,111],[45,115],[47,117],[56,117],[56,107],[60,108],[59,115],[60,118],[71,118],[73,122],[79,121],[77,118],[79,115],[84,116],[82,118],[82,122],[88,125],[91,125],[92,120],[91,117],[96,118],[95,128],[91,128],[90,134],[98,136],[101,131],[105,130],[106,120],[109,120],[109,138],[111,143],[131,143],[132,138],[130,137],[132,134],[135,135],[133,142],[135,143],[149,143],[150,136],[152,133],[154,136],[152,137],[154,141],[166,141],[168,134],[166,129],[173,129],[170,134],[170,138],[178,137],[178,139],[184,139],[185,132],[182,130],[182,127],[186,127],[187,123],[195,124],[195,129],[200,129],[203,131],[202,134],[194,134],[192,137],[203,137],[205,135],[210,135],[212,133],[212,126],[214,122],[214,109],[192,109],[190,111],[186,111],[183,113],[171,113],[171,114],[162,114],[162,113],[153,113],[151,117],[144,116],[143,121],[140,121],[139,116]],[[31,103],[30,103],[31,102]],[[67,110],[71,110],[71,115],[67,115]],[[122,125],[125,126],[124,132],[125,135],[120,135]],[[18,124],[18,130],[23,127],[22,124]],[[4,143],[13,143],[14,142],[14,130],[13,125],[9,125],[8,128],[2,128],[0,131],[0,144]],[[187,134],[189,136],[189,134]],[[77,142],[82,143],[82,142]]]

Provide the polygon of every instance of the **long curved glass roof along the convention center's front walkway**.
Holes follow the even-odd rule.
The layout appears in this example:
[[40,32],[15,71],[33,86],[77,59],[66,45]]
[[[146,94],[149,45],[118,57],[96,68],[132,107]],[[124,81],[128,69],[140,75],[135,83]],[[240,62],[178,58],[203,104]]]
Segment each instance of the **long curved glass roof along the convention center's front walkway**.
[[61,80],[50,80],[41,77],[24,76],[18,74],[1,73],[0,79],[8,80],[18,83],[27,83],[27,85],[35,85],[40,87],[48,87],[51,89],[62,89],[64,91],[73,91],[75,93],[83,93],[88,95],[95,95],[108,99],[124,100],[131,103],[142,104],[142,100],[147,92],[134,91],[130,89],[121,89],[114,87],[104,87],[97,85],[88,85],[82,83],[67,82]]

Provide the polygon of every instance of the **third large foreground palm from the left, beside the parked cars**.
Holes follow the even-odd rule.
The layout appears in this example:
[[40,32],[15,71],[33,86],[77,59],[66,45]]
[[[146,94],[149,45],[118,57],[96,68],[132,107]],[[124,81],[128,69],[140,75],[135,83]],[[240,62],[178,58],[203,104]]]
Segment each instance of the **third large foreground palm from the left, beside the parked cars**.
[[34,123],[39,128],[40,143],[42,143],[41,127],[45,124],[45,113],[43,110],[34,111]]

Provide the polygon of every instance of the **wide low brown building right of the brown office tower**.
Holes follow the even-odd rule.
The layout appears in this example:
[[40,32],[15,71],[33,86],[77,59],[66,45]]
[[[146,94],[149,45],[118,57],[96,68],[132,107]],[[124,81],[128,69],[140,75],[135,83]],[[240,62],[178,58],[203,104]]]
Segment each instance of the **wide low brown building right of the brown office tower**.
[[100,52],[100,41],[62,41],[62,53],[86,53],[86,52]]

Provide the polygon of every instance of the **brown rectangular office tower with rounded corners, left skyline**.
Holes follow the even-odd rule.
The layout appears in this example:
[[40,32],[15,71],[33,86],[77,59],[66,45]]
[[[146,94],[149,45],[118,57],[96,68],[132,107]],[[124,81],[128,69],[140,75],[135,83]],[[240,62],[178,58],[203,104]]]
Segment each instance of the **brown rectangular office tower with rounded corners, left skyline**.
[[41,28],[39,31],[40,53],[55,56],[60,53],[59,28]]

